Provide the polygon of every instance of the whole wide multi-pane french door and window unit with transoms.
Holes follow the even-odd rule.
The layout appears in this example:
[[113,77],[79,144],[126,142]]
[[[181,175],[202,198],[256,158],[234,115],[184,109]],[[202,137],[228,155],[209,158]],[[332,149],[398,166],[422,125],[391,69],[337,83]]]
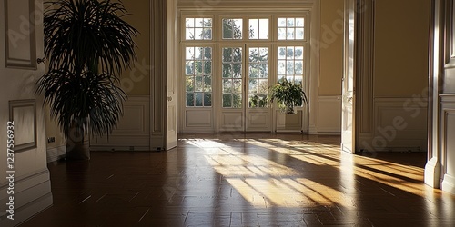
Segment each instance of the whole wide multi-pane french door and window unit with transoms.
[[[308,91],[308,15],[181,16],[179,127],[184,133],[301,131],[307,107],[269,104],[278,79]],[[308,93],[307,93],[308,94]]]

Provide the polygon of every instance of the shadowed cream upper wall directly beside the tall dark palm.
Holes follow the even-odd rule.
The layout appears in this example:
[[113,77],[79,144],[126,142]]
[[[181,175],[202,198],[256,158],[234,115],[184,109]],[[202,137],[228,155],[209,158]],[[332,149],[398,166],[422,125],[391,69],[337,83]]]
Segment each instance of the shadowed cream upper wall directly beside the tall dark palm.
[[121,86],[128,95],[150,94],[150,1],[123,1],[126,11],[124,19],[135,27],[139,34],[136,38],[137,61],[130,70],[121,75]]

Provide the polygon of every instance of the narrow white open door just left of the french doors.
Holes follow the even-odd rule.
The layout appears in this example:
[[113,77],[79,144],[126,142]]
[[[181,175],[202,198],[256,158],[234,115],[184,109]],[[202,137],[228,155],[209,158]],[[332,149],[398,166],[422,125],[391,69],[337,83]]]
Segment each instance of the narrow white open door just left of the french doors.
[[177,146],[177,1],[167,0],[166,150]]

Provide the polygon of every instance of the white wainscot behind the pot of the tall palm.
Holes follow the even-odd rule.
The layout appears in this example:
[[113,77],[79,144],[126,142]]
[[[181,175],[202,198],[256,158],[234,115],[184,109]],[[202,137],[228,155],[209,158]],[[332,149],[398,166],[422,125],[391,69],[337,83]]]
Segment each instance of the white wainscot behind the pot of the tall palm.
[[91,138],[90,150],[149,150],[149,106],[148,96],[129,96],[116,129],[108,137]]

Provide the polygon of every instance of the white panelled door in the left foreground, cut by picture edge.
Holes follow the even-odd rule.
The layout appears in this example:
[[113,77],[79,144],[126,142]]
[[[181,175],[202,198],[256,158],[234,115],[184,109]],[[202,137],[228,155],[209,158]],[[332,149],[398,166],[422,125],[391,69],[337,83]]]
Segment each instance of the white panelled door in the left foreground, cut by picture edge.
[[[43,1],[0,0],[0,18],[0,147],[5,151],[0,155],[2,207],[11,202],[10,196],[14,199],[14,215],[2,209],[0,226],[14,226],[52,204],[45,111],[42,97],[35,95],[35,83],[45,71],[45,65],[37,63],[44,55]],[[6,138],[13,138],[14,143]],[[14,194],[6,193],[10,179],[14,179]]]

